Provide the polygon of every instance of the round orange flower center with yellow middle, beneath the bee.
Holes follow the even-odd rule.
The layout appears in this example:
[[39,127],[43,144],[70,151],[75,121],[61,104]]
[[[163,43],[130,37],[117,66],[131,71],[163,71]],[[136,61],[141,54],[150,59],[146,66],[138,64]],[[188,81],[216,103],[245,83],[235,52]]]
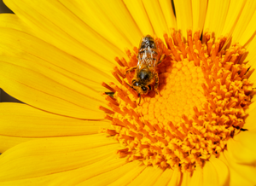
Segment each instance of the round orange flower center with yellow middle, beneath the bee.
[[[164,35],[166,58],[157,67],[160,95],[154,90],[141,97],[129,86],[134,73],[125,71],[137,65],[137,48],[126,51],[129,61],[115,60],[113,76],[117,84],[102,85],[114,92],[103,94],[108,107],[100,107],[111,120],[112,128],[103,131],[114,136],[124,149],[120,157],[141,160],[146,166],[194,171],[204,166],[211,155],[226,149],[227,140],[243,129],[245,110],[255,94],[248,78],[253,73],[241,61],[244,49],[238,44],[223,49],[226,38],[213,39],[204,34],[188,32],[188,42],[173,32]],[[157,48],[163,42],[156,38]]]

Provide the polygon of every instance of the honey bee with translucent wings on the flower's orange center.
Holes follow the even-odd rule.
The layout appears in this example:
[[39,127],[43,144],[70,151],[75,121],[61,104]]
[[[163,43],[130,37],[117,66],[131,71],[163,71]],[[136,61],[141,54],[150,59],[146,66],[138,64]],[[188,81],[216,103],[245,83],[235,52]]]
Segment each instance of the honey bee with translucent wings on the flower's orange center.
[[154,92],[159,94],[158,85],[159,77],[157,66],[164,59],[165,55],[161,55],[160,60],[154,38],[150,35],[143,37],[140,41],[137,55],[137,66],[129,68],[127,73],[136,70],[134,78],[131,81],[131,88],[137,91],[139,97],[147,95],[152,90],[154,84]]

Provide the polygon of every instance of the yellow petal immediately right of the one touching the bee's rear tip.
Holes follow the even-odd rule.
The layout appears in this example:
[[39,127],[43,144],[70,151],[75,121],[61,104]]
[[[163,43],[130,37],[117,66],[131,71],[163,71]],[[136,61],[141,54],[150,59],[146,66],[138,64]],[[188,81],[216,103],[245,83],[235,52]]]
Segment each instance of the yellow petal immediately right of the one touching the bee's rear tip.
[[146,9],[148,18],[153,26],[154,33],[157,37],[164,39],[164,32],[169,33],[169,28],[166,24],[165,15],[162,12],[158,0],[147,1],[143,0],[144,8]]

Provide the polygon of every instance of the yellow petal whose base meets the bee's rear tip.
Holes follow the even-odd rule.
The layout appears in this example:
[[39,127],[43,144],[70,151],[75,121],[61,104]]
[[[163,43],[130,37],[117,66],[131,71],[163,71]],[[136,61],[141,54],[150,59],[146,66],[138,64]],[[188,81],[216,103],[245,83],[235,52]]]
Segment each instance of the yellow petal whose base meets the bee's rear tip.
[[143,2],[124,0],[124,3],[143,35],[154,35],[154,29],[143,6]]

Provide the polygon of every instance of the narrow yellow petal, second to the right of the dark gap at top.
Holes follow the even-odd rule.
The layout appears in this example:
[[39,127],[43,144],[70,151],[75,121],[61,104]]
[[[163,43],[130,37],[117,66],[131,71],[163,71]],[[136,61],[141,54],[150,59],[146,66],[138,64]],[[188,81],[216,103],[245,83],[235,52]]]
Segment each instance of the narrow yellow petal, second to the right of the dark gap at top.
[[192,18],[193,18],[193,29],[195,33],[197,31],[201,32],[205,24],[206,15],[207,15],[207,1],[206,0],[193,0],[191,1],[192,5]]

